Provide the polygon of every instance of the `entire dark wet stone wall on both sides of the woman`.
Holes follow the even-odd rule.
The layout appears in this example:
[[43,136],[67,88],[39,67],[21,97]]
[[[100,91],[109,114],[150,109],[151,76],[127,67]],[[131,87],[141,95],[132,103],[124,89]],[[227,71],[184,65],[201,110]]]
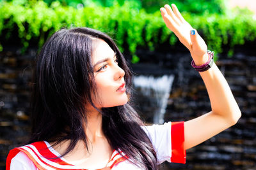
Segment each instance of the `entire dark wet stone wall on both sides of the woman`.
[[[35,48],[20,55],[15,46],[0,53],[0,169],[4,169],[8,151],[28,139],[35,55]],[[211,110],[204,82],[190,66],[187,51],[139,49],[137,55],[141,64],[131,65],[134,73],[175,74],[166,122],[190,120]],[[243,116],[230,129],[189,149],[185,165],[165,163],[161,169],[256,169],[256,53],[236,52],[231,58],[220,55],[216,64],[227,78]]]

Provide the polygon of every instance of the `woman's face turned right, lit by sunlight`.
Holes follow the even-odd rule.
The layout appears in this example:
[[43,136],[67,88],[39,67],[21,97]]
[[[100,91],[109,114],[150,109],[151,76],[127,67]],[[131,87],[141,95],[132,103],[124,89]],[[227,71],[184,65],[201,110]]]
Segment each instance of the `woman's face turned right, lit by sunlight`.
[[124,105],[128,101],[124,70],[118,66],[115,52],[108,43],[102,39],[93,43],[92,64],[98,92],[93,103],[97,108]]

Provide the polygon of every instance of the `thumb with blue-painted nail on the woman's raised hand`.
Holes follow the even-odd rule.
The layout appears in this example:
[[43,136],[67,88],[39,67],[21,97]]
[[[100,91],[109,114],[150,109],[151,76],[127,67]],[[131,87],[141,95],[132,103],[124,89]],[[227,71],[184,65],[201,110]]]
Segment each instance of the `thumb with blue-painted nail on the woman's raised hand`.
[[205,53],[207,50],[207,45],[205,44],[204,39],[198,34],[198,32],[195,29],[191,30],[190,33],[190,39],[191,39],[191,50],[196,53]]

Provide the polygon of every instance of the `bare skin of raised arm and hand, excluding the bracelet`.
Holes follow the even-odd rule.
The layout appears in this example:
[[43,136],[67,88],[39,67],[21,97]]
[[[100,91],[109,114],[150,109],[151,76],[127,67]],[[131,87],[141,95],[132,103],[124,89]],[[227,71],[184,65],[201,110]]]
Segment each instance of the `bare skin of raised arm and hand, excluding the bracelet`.
[[[172,4],[172,8],[166,4],[160,10],[164,23],[188,48],[196,66],[204,64],[209,59],[204,39],[184,20],[175,4]],[[190,33],[191,30],[195,31],[194,35]],[[184,123],[186,150],[236,124],[241,117],[241,111],[220,69],[213,64],[207,71],[200,72],[200,76],[209,94],[211,111]]]

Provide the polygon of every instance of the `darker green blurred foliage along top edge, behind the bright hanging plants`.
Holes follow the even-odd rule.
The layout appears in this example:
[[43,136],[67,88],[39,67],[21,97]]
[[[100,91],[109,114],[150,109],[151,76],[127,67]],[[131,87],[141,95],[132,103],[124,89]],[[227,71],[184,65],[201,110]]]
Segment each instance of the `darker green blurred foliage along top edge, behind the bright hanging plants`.
[[[15,0],[17,1],[17,0]],[[24,0],[18,0],[24,1]],[[59,1],[63,6],[73,6],[74,8],[79,8],[81,4],[83,6],[104,6],[110,7],[118,4],[122,6],[124,0],[44,0],[45,3],[51,5],[54,1]],[[188,11],[196,15],[203,15],[204,13],[225,13],[226,4],[225,0],[126,0],[132,4],[132,8],[140,10],[145,9],[148,13],[154,13],[159,10],[164,4],[175,3],[179,6],[181,11]]]

